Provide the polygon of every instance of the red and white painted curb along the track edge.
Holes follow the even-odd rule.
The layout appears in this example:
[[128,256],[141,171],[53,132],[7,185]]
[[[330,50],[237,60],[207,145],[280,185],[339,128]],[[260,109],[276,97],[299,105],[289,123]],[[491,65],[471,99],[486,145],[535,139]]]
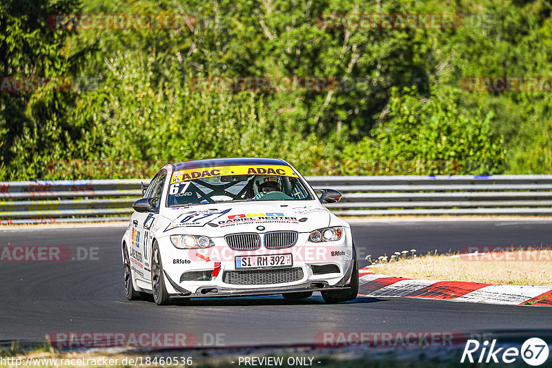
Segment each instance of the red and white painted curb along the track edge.
[[464,281],[413,280],[359,269],[359,295],[378,298],[408,297],[455,302],[552,307],[552,287],[491,285]]

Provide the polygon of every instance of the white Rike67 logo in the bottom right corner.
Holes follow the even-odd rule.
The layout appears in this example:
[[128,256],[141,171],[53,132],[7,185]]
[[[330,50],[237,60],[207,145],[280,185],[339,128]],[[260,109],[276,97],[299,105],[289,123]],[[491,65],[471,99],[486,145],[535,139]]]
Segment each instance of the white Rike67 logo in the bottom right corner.
[[549,347],[541,338],[529,338],[523,343],[521,349],[517,347],[496,347],[496,340],[491,343],[489,343],[489,340],[485,340],[483,343],[477,340],[468,340],[460,362],[512,363],[521,357],[528,365],[537,366],[546,362],[548,356]]

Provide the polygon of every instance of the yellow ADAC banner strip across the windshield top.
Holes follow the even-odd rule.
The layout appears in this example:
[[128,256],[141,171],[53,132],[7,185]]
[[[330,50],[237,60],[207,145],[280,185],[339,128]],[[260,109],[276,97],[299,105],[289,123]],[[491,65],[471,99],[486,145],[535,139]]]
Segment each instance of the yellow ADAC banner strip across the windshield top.
[[179,183],[181,181],[188,181],[200,178],[210,178],[212,176],[226,176],[226,175],[281,175],[281,176],[295,176],[297,174],[286,165],[238,165],[238,166],[216,166],[216,167],[203,167],[200,169],[179,170],[172,173],[172,179],[170,183]]

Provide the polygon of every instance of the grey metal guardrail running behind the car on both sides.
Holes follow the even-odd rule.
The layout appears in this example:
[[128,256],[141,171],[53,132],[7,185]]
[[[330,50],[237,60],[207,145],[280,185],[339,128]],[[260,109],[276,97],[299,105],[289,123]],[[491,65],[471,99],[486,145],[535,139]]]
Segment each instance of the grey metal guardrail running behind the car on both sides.
[[[342,201],[335,214],[552,214],[552,175],[310,176]],[[140,179],[0,182],[0,223],[126,220]],[[148,180],[144,180],[147,183]]]

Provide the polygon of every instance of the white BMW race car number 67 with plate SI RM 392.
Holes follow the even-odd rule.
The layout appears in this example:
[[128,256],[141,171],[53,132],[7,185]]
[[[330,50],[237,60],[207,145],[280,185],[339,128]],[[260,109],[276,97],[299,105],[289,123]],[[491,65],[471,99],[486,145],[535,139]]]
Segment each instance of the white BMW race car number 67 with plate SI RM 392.
[[351,227],[322,205],[341,194],[313,190],[286,161],[169,164],[142,192],[121,241],[129,300],[357,296]]

